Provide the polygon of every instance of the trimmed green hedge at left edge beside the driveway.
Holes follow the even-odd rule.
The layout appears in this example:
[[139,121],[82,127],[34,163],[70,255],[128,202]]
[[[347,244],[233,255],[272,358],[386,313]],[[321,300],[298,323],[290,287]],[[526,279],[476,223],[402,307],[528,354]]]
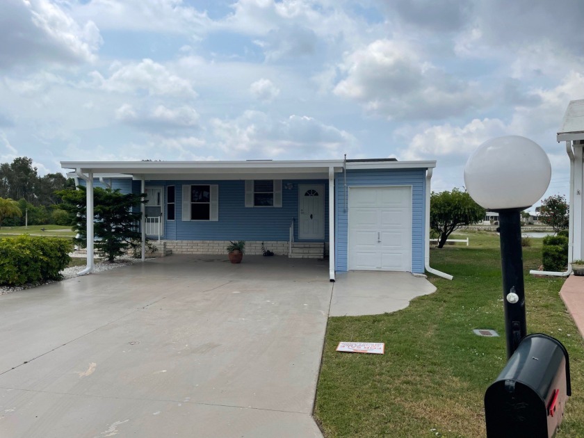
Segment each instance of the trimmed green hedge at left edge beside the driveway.
[[64,238],[28,235],[0,240],[0,285],[21,286],[61,278],[73,243]]

